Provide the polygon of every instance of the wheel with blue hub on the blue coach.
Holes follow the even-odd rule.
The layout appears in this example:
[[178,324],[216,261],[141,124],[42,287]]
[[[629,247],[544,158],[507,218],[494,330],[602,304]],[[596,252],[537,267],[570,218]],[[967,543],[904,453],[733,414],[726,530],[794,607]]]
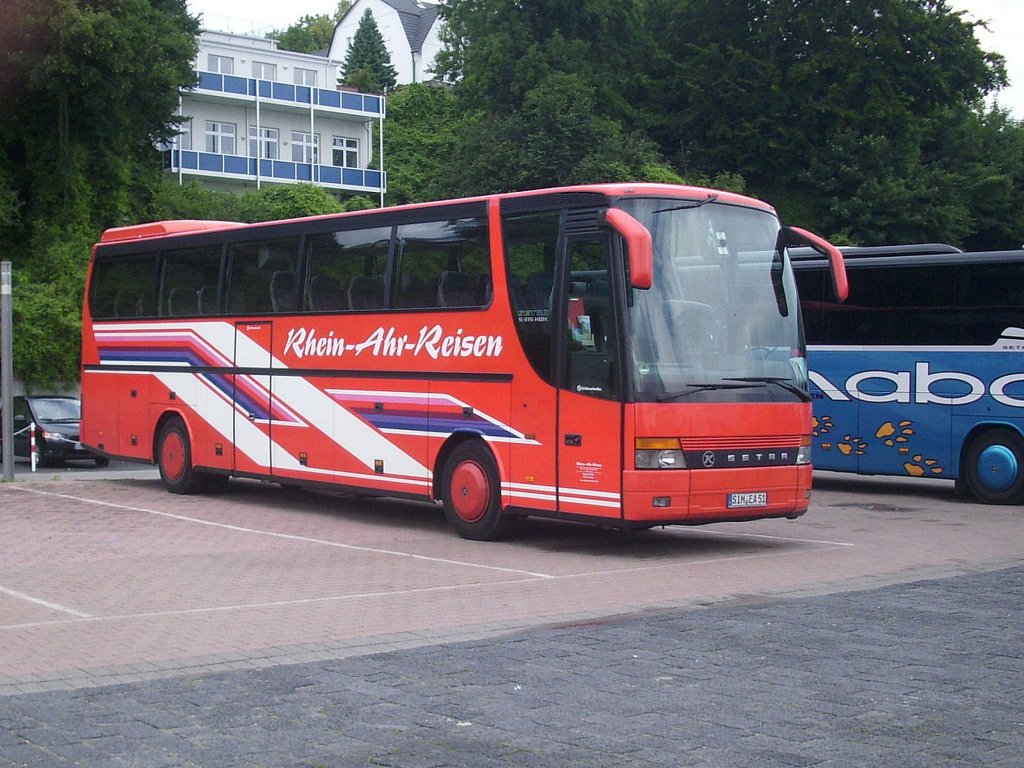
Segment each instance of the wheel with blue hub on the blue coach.
[[1012,429],[978,435],[964,457],[964,479],[984,504],[1024,502],[1024,439]]

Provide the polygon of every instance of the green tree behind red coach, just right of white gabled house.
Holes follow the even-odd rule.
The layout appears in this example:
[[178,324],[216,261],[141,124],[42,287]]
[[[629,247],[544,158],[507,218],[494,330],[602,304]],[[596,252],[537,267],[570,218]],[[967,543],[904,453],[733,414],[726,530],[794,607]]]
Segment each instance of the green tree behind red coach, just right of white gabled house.
[[646,40],[636,2],[445,0],[444,50],[464,118],[453,194],[678,178],[631,127]]

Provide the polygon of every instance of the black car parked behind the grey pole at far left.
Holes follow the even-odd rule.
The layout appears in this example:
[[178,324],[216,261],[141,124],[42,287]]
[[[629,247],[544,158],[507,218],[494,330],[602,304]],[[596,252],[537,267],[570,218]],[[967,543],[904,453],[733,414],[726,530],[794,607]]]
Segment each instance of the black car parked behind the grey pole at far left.
[[88,460],[105,467],[111,460],[82,446],[78,423],[82,402],[77,397],[30,395],[13,399],[14,456],[29,458],[29,425],[36,424],[36,447],[40,466],[59,466],[66,461]]

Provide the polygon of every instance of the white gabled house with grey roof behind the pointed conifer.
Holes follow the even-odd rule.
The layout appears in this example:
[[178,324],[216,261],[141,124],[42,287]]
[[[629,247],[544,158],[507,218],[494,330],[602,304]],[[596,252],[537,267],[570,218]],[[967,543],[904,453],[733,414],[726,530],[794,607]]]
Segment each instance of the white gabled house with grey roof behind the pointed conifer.
[[384,46],[397,71],[398,85],[433,80],[434,57],[441,49],[437,5],[426,0],[355,0],[334,31],[328,57],[344,61],[367,10],[374,14]]

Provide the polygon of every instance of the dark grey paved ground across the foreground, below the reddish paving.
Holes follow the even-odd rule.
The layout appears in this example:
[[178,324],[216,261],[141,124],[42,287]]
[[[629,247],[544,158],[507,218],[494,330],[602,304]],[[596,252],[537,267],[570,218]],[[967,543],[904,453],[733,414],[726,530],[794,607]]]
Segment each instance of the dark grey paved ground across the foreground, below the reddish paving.
[[1024,766],[1024,568],[0,698],[0,766]]

